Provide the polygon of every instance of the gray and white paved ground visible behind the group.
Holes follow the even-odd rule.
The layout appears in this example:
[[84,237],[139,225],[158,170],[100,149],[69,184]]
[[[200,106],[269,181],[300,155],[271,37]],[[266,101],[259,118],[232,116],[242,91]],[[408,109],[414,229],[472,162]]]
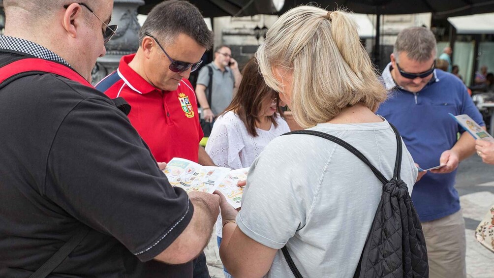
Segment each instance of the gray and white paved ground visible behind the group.
[[[475,228],[494,203],[494,165],[482,163],[477,156],[466,159],[458,168],[456,190],[460,195],[466,224],[467,277],[494,278],[494,253],[480,245],[474,237]],[[205,252],[211,277],[223,278],[215,235]]]

